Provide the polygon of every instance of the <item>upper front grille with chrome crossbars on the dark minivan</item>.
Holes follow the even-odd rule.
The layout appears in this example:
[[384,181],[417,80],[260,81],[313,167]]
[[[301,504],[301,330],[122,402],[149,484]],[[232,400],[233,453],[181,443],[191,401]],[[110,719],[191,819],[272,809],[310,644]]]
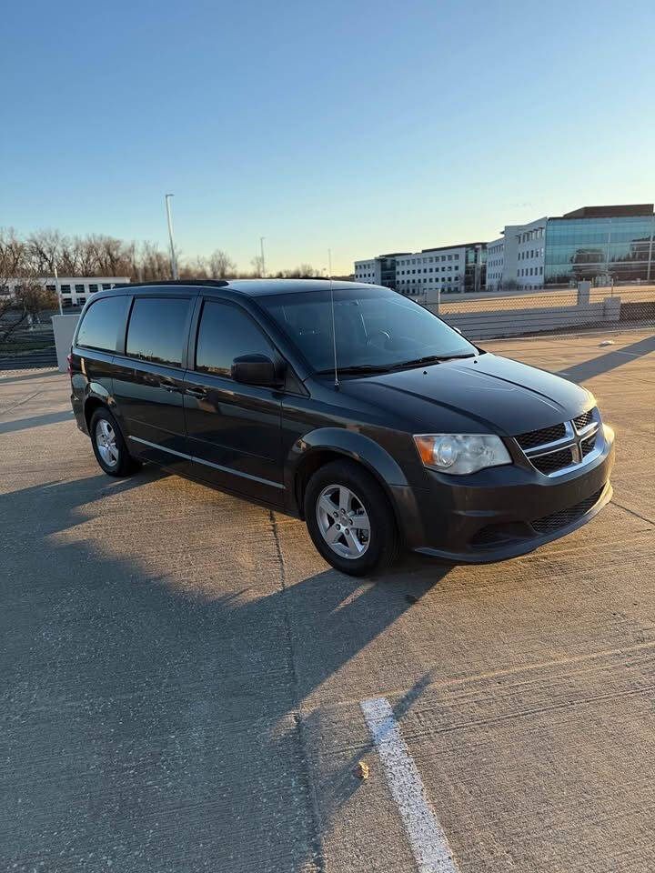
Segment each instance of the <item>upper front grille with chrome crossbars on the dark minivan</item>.
[[557,476],[598,455],[600,426],[599,411],[594,406],[571,421],[531,430],[514,439],[532,467],[543,476]]

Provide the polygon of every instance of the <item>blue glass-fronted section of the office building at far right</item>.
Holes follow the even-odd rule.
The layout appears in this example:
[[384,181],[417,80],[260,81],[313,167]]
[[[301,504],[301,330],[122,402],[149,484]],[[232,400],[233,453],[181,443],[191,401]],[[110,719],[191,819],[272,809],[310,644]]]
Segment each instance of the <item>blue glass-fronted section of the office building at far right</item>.
[[[605,215],[601,207],[549,218],[544,284],[562,285],[613,276],[617,283],[655,282],[655,215]],[[619,212],[621,207],[617,207]],[[646,213],[646,209],[642,210]],[[595,214],[594,214],[595,213]]]

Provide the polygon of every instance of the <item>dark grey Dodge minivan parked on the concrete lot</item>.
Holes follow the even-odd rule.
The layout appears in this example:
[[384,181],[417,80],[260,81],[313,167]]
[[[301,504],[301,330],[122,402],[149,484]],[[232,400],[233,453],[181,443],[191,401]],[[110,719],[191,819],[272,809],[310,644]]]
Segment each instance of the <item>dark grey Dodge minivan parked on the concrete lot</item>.
[[303,518],[353,575],[401,547],[521,555],[612,493],[614,435],[589,391],[384,287],[120,286],[87,302],[69,362],[107,474],[152,462]]

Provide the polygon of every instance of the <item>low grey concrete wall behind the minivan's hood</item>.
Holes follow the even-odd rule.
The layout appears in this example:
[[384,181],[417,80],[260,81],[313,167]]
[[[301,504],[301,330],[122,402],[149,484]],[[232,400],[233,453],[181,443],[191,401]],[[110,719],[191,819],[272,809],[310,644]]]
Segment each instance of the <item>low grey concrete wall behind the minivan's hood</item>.
[[449,312],[447,306],[427,308],[448,325],[459,327],[469,339],[492,339],[548,331],[557,333],[570,327],[603,326],[620,319],[620,297],[606,297],[600,303],[578,306],[544,306],[531,309],[496,309],[484,312]]

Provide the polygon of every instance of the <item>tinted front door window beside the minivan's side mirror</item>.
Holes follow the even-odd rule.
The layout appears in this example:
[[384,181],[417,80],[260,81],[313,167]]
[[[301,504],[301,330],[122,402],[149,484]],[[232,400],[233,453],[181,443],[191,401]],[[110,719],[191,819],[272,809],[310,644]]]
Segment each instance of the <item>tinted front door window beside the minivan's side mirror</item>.
[[273,346],[242,309],[207,300],[198,327],[196,370],[229,378],[235,357],[250,354],[275,356]]

